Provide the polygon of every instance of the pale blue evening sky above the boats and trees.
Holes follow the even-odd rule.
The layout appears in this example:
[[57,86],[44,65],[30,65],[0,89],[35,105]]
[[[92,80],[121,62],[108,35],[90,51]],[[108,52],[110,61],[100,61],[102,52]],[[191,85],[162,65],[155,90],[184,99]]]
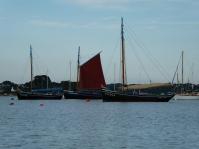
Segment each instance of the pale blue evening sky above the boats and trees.
[[0,0],[0,82],[30,80],[30,44],[34,75],[75,81],[80,46],[81,63],[102,51],[106,82],[119,82],[123,17],[128,83],[171,82],[182,50],[185,82],[199,83],[198,8],[198,0]]

